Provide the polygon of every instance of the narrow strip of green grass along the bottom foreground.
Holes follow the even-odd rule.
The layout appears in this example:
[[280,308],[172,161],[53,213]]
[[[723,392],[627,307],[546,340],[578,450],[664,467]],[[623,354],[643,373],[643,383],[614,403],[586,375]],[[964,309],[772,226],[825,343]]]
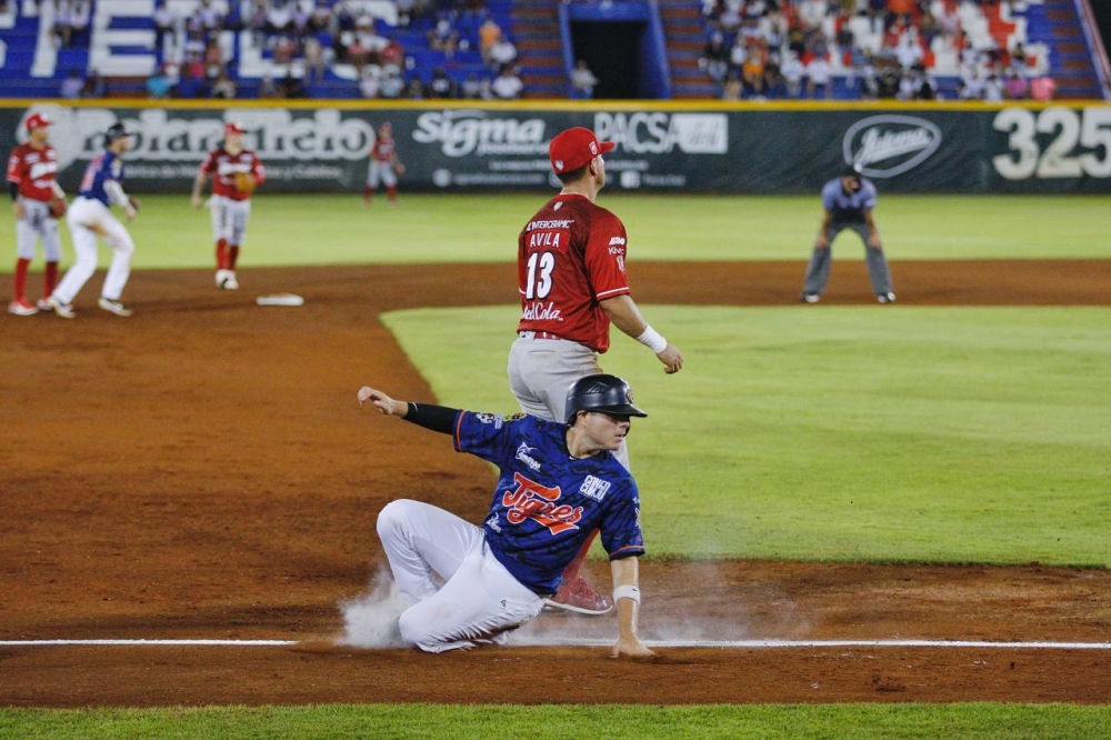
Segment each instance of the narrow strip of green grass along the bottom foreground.
[[1071,704],[360,704],[0,710],[0,736],[96,738],[1042,738],[1111,733],[1111,707]]

